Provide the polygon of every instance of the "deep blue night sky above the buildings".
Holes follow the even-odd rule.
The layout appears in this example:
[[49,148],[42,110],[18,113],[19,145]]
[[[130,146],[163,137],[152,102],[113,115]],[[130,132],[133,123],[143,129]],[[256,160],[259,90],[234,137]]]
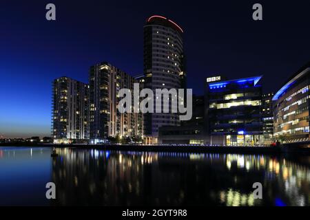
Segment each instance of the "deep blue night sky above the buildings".
[[[48,3],[56,21],[45,19]],[[263,21],[252,19],[254,3],[262,4]],[[310,61],[309,10],[309,1],[1,0],[0,133],[50,136],[54,78],[86,83],[100,61],[142,74],[143,25],[154,14],[185,31],[194,94],[214,75],[263,75],[264,91],[276,91]]]

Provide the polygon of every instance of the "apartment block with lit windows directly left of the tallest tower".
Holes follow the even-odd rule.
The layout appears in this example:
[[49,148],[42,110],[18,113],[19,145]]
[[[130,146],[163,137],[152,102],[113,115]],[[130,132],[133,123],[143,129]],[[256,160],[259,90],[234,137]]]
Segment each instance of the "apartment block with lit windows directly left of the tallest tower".
[[[138,80],[102,62],[90,67],[90,143],[104,143],[107,137],[143,135],[141,113],[121,113],[117,110],[120,89],[134,89]],[[133,96],[132,96],[133,103]]]

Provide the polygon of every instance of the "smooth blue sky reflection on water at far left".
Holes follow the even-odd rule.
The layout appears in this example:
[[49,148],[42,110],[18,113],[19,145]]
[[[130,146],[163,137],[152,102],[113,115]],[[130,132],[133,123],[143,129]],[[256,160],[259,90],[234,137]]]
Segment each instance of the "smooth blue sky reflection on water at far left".
[[0,147],[0,206],[48,206],[50,148]]

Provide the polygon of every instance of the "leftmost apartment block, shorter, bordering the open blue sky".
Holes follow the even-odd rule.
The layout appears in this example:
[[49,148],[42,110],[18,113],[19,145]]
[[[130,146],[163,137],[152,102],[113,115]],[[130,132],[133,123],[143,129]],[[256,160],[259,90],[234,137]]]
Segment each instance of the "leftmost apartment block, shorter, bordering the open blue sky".
[[55,144],[89,138],[88,85],[68,77],[57,78],[52,88],[52,137]]

